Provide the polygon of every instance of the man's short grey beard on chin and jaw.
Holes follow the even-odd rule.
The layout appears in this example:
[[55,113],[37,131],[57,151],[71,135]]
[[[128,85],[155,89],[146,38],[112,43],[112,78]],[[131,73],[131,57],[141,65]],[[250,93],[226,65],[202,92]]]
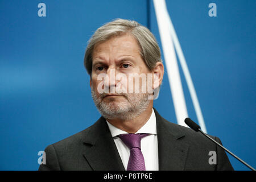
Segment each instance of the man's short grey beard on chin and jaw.
[[125,96],[126,101],[113,104],[112,102],[106,103],[103,101],[105,94],[100,94],[100,96],[97,97],[93,89],[91,90],[94,104],[101,115],[106,119],[134,119],[139,114],[143,113],[147,109],[148,104],[150,104],[148,93],[123,93],[122,96]]

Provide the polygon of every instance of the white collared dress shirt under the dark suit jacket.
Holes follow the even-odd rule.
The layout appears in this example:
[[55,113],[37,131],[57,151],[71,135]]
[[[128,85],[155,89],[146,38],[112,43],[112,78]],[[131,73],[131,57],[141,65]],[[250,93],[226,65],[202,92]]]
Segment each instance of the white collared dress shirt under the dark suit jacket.
[[[130,149],[119,137],[117,137],[117,135],[127,134],[127,132],[111,125],[108,121],[106,122],[108,123],[110,133],[114,139],[115,146],[117,146],[123,166],[127,169]],[[141,129],[137,131],[137,133],[151,134],[141,139],[141,151],[144,156],[146,171],[158,171],[158,137],[156,135],[156,118],[154,109],[152,109],[151,117],[141,127]]]

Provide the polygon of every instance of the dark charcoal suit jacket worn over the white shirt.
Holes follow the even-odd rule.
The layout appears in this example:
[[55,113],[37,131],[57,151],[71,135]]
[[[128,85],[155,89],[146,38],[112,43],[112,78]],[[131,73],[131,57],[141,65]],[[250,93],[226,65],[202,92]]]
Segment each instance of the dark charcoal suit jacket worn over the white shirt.
[[[225,151],[216,144],[154,111],[159,170],[233,170]],[[212,138],[221,143],[217,137]],[[216,165],[209,164],[210,151],[216,151]],[[103,117],[80,133],[49,145],[45,152],[46,164],[41,164],[39,170],[125,170]]]

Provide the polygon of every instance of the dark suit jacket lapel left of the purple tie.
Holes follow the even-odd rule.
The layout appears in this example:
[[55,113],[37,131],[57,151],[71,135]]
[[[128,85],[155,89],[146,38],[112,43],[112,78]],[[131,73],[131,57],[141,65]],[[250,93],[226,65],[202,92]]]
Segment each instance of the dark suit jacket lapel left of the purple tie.
[[85,146],[83,155],[93,170],[125,170],[109,127],[103,117],[89,128],[83,142]]

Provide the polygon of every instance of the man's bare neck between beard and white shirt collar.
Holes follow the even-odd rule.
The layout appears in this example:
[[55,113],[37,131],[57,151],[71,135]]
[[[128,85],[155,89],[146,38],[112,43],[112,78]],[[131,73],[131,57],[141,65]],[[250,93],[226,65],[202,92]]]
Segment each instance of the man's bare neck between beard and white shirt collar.
[[136,133],[150,118],[152,114],[152,108],[153,102],[151,101],[150,104],[148,104],[147,109],[133,119],[125,120],[115,118],[107,120],[111,125],[117,127],[120,130],[126,131],[127,133]]

